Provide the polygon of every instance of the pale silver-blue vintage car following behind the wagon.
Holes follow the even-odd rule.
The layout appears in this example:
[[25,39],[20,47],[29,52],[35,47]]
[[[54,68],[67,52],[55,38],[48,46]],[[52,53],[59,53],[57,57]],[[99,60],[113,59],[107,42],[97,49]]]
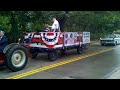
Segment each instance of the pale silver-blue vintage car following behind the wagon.
[[120,44],[120,34],[109,34],[104,38],[100,38],[100,44],[102,46],[107,44],[112,44],[112,45]]

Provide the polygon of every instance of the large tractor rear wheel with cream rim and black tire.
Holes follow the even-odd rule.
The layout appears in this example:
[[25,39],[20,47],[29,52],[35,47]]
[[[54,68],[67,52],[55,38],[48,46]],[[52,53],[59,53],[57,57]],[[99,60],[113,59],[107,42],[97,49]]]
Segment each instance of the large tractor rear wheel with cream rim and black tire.
[[5,54],[5,64],[13,72],[22,70],[28,62],[27,51],[16,45]]

